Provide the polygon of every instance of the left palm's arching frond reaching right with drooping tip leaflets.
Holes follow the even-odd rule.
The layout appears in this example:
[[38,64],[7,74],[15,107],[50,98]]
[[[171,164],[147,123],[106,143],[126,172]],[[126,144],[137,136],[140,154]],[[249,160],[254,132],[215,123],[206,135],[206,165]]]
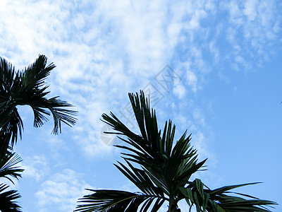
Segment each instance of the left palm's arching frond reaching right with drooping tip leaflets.
[[[50,71],[56,66],[54,64],[47,65],[47,57],[39,55],[39,58],[23,71],[21,79],[23,81],[23,88],[21,90],[20,105],[30,105],[35,114],[34,126],[42,126],[47,122],[47,116],[50,112],[54,119],[53,133],[61,132],[61,122],[71,126],[75,124],[74,110],[68,110],[66,107],[73,107],[66,101],[59,100],[58,96],[54,98],[46,98],[49,93],[45,91],[48,86],[44,86],[44,81],[49,76]],[[49,110],[50,112],[48,112]]]

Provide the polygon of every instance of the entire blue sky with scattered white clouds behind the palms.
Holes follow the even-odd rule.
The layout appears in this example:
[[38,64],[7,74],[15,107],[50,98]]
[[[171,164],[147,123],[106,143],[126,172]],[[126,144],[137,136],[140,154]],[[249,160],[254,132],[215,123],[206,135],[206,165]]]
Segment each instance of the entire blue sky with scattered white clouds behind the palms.
[[137,131],[128,93],[139,90],[160,129],[168,119],[176,139],[188,129],[208,158],[195,177],[213,189],[263,182],[236,191],[282,211],[281,1],[2,0],[0,14],[0,57],[21,70],[46,55],[50,97],[78,111],[55,136],[51,117],[36,129],[18,107],[23,211],[73,211],[86,188],[138,191],[114,167],[121,141],[100,119],[111,111]]

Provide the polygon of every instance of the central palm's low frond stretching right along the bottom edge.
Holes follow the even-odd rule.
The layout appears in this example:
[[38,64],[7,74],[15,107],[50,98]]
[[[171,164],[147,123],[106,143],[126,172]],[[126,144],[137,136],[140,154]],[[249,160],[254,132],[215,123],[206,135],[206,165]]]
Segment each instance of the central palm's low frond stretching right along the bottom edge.
[[[238,192],[228,192],[231,189],[243,187],[250,184],[238,184],[219,189],[211,190],[207,188],[200,179],[195,179],[194,182],[190,182],[188,187],[180,188],[180,192],[185,196],[186,201],[190,206],[195,205],[197,212],[199,211],[215,211],[215,212],[239,212],[239,211],[269,211],[271,205],[275,205],[274,201],[267,201],[258,199],[255,196],[247,194],[241,194]],[[204,189],[206,187],[207,189]],[[237,194],[237,196],[231,196],[229,194]],[[244,199],[248,197],[249,199]]]

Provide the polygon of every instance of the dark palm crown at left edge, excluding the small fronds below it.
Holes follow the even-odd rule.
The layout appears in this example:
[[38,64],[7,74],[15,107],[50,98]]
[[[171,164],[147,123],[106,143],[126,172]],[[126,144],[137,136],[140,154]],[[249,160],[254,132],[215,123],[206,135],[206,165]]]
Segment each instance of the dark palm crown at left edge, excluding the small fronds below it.
[[[75,124],[75,111],[66,107],[73,105],[59,100],[58,97],[47,98],[48,86],[44,81],[56,66],[47,65],[47,57],[39,55],[33,64],[23,71],[15,71],[12,64],[0,58],[0,158],[8,146],[13,148],[18,136],[21,138],[23,121],[18,114],[17,105],[29,105],[34,114],[34,126],[42,126],[50,113],[54,119],[53,133],[61,132],[61,122]],[[49,111],[48,111],[49,110]]]

